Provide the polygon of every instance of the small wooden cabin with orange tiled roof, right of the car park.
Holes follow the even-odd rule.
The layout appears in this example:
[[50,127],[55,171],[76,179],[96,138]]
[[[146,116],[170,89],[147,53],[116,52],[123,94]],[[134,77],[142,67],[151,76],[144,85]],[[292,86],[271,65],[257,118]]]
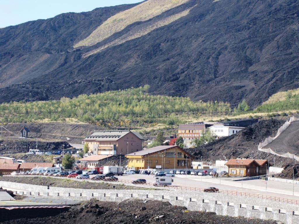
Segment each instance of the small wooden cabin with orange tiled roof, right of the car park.
[[266,159],[230,159],[225,165],[228,166],[229,176],[255,177],[266,175],[268,171],[268,160]]

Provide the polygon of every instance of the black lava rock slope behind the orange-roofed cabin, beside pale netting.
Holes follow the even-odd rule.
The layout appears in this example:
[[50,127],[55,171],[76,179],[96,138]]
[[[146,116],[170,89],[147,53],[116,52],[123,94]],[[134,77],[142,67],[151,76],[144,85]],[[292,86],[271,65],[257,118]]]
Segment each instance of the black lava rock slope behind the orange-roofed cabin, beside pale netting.
[[[228,160],[231,158],[268,159],[268,154],[258,151],[257,145],[266,137],[275,135],[278,128],[283,125],[284,120],[269,119],[260,120],[254,125],[244,128],[237,134],[222,137],[206,145],[187,149],[196,159],[213,161]],[[274,164],[274,155],[269,157],[270,163]],[[275,157],[275,166],[283,167],[286,164],[293,164],[293,159]]]

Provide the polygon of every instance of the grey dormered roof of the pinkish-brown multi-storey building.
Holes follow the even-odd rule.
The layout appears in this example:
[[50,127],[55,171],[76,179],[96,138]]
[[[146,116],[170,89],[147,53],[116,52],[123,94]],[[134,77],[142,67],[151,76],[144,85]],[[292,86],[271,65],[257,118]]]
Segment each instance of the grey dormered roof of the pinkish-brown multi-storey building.
[[93,134],[86,136],[84,140],[95,140],[95,141],[115,141],[126,134],[133,133],[139,139],[143,139],[143,137],[136,131],[129,131],[129,130],[121,130],[121,131],[94,131]]

